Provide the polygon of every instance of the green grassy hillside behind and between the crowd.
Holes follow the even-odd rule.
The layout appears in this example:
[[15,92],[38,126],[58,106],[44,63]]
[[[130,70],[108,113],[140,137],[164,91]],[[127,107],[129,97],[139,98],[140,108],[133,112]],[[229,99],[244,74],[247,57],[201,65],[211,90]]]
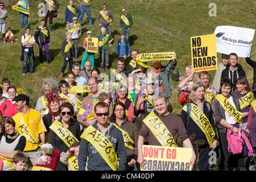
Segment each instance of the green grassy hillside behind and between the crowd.
[[[18,0],[17,0],[18,1]],[[5,4],[11,1],[3,1]],[[14,1],[15,2],[15,1]],[[31,16],[28,21],[31,31],[34,34],[35,27],[39,25],[42,17],[38,16],[38,4],[43,1],[30,1]],[[31,97],[31,104],[35,106],[36,100],[42,96],[42,81],[46,77],[58,76],[63,65],[63,56],[60,53],[61,43],[65,40],[64,10],[68,0],[58,0],[60,9],[58,17],[53,19],[53,32],[51,32],[51,59],[52,62],[40,64],[38,46],[34,46],[35,51],[35,73],[22,75],[22,61],[20,57],[20,40],[24,29],[19,28],[19,13],[9,8],[9,18],[7,27],[14,30],[18,39],[13,44],[0,43],[0,78],[8,77],[11,84],[17,88],[22,88]],[[74,1],[79,5],[78,1]],[[133,16],[134,26],[131,29],[131,49],[138,49],[140,52],[165,52],[175,51],[177,53],[177,67],[180,75],[184,74],[184,67],[191,64],[190,37],[197,35],[213,34],[214,29],[221,25],[247,27],[255,29],[255,5],[253,1],[242,0],[216,0],[217,16],[210,17],[209,3],[212,1],[188,1],[188,0],[93,0],[91,5],[94,26],[90,27],[86,14],[82,24],[82,38],[79,41],[79,57],[76,61],[81,63],[84,49],[82,42],[86,36],[86,31],[91,30],[93,36],[100,33],[100,26],[96,22],[98,12],[101,10],[102,3],[108,4],[108,9],[112,11],[114,22],[112,34],[114,42],[119,38],[121,32],[119,27],[119,17],[122,9],[126,8],[128,13]],[[115,43],[114,43],[115,44]],[[255,39],[254,39],[255,44]],[[251,51],[251,58],[256,60],[255,47]],[[116,68],[114,46],[110,47],[110,65]],[[252,68],[246,64],[245,59],[238,62],[246,70],[246,75],[252,82]],[[100,56],[97,53],[95,59],[96,67],[100,64]],[[164,63],[165,64],[165,63]],[[66,68],[66,73],[68,68]],[[101,71],[101,69],[100,69]],[[210,72],[212,77],[215,71]],[[174,113],[179,114],[181,107],[177,104],[177,82],[170,80],[173,97],[171,104],[174,106]]]

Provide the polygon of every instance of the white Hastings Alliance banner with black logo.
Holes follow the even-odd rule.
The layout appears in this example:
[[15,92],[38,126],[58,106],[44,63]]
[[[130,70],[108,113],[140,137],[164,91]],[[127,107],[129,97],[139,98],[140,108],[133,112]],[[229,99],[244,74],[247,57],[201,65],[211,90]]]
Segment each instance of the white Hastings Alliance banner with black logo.
[[250,28],[219,26],[216,27],[217,52],[229,55],[234,52],[238,57],[250,57],[251,43],[255,30]]

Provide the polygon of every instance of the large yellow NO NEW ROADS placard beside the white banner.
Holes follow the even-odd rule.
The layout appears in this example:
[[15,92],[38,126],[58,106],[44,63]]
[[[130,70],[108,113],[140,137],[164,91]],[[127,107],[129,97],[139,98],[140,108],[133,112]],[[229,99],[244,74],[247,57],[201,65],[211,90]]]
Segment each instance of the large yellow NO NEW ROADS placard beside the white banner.
[[192,36],[191,57],[196,72],[217,69],[216,35]]

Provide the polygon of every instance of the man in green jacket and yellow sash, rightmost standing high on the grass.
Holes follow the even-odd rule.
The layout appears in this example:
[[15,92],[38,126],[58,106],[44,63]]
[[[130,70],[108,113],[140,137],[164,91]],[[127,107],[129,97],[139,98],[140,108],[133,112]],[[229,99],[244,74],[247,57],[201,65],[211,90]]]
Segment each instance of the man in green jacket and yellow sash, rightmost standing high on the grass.
[[122,33],[125,34],[125,40],[129,40],[130,29],[133,26],[133,18],[127,13],[126,9],[122,9],[122,16],[120,18],[120,27],[122,28]]

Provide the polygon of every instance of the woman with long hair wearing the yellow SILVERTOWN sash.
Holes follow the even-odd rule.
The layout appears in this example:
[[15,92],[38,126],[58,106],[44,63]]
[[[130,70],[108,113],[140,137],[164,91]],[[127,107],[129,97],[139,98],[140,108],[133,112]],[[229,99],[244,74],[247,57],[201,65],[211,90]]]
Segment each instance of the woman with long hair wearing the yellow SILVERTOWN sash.
[[[183,107],[181,119],[187,129],[196,155],[199,155],[199,170],[209,170],[210,148],[217,147],[217,133],[213,111],[205,101],[205,88],[201,82],[192,86],[190,102]],[[193,167],[195,169],[195,166]]]

